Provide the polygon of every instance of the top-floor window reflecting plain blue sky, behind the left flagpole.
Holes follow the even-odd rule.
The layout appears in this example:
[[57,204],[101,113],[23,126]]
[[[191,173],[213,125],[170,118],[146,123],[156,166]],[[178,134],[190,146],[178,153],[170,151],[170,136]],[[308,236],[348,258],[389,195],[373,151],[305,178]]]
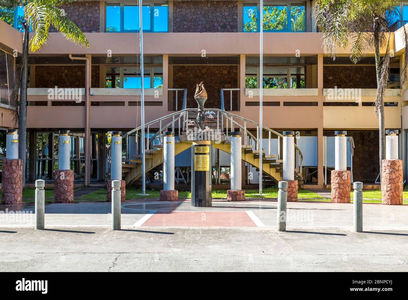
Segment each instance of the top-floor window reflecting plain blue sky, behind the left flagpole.
[[[142,8],[143,31],[167,32],[168,5],[166,3],[145,3]],[[139,6],[135,3],[106,4],[106,32],[137,32]]]

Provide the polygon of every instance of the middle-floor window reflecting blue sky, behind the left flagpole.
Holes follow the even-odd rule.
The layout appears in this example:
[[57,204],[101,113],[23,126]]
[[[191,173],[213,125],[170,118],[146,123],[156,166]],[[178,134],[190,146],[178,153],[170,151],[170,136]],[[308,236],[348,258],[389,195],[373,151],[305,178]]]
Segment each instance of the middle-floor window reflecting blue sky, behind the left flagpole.
[[[162,89],[163,67],[144,67],[145,89]],[[153,76],[151,76],[153,75]],[[140,67],[106,67],[106,88],[140,89]]]

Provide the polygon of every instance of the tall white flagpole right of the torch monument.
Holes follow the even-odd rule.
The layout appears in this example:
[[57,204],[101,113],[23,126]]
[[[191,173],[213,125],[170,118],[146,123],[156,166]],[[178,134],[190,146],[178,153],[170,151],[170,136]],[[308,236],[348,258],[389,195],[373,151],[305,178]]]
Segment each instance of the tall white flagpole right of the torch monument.
[[264,35],[264,29],[263,29],[263,16],[264,16],[264,2],[263,0],[261,1],[261,8],[260,8],[260,13],[259,13],[259,33],[260,33],[260,56],[259,56],[259,195],[262,195],[262,87],[263,87],[263,82],[264,82],[264,77],[263,77],[263,35]]

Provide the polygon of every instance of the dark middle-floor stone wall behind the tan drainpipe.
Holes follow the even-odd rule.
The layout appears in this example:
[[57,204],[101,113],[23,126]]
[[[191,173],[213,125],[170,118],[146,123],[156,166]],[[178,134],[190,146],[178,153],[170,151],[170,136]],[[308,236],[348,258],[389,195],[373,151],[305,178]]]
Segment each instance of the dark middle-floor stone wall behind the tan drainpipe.
[[[85,66],[35,66],[35,87],[85,87]],[[92,66],[91,87],[99,87],[99,65]]]

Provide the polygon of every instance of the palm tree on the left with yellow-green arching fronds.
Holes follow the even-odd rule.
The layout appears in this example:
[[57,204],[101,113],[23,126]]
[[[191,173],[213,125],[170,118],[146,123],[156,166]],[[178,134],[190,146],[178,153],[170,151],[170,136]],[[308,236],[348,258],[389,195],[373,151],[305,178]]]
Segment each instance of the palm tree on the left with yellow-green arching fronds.
[[[59,9],[62,4],[68,4],[73,0],[0,0],[0,6],[20,6],[24,10],[22,20],[23,50],[20,64],[14,73],[14,86],[10,97],[11,107],[14,108],[14,124],[18,122],[19,144],[18,157],[22,160],[23,188],[25,186],[25,165],[27,153],[27,76],[28,76],[28,50],[39,50],[47,44],[49,27],[53,26],[60,31],[67,40],[75,44],[85,45],[89,48],[89,42],[84,33],[72,22],[65,13]],[[29,26],[33,27],[32,37],[29,40]],[[20,82],[20,86],[18,85]],[[20,103],[18,92],[20,90]]]

